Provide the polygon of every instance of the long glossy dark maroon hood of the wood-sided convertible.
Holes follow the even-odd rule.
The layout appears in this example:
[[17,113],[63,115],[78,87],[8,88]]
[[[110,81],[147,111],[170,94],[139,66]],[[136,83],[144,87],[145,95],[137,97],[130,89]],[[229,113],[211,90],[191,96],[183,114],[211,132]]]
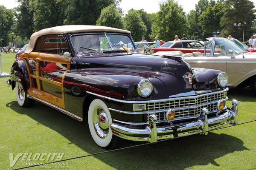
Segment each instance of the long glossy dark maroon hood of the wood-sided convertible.
[[[169,96],[192,91],[192,82],[189,75],[193,76],[190,66],[177,57],[162,57],[150,54],[116,53],[82,57],[76,61],[77,68],[105,70],[109,75],[127,75],[140,77],[140,79],[159,79]],[[136,80],[137,83],[140,81]],[[131,79],[130,79],[131,80]],[[118,84],[127,84],[129,80],[120,79]],[[122,81],[122,82],[121,82]],[[119,86],[119,85],[118,85]],[[153,86],[154,83],[153,83]],[[158,90],[155,88],[154,90]],[[156,92],[158,93],[158,92]]]

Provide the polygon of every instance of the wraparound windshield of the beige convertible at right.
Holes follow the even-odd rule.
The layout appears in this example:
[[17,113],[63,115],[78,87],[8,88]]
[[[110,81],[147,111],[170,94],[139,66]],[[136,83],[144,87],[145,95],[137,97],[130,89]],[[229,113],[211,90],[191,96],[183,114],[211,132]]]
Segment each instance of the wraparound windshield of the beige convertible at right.
[[244,50],[241,49],[238,45],[233,43],[230,40],[227,40],[225,38],[214,38],[215,41],[215,47],[214,47],[214,55],[215,56],[228,56],[231,55],[230,51],[232,51],[234,54],[243,54]]

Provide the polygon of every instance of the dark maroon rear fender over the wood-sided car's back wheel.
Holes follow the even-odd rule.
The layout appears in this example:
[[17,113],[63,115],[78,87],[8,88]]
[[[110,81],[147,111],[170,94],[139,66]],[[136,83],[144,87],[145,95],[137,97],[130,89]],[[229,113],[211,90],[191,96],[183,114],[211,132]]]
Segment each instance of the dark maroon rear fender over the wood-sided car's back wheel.
[[[29,73],[24,60],[19,59],[12,64],[10,79],[12,82],[21,82],[25,91],[29,89]],[[15,88],[13,84],[14,83],[12,83],[12,90]]]

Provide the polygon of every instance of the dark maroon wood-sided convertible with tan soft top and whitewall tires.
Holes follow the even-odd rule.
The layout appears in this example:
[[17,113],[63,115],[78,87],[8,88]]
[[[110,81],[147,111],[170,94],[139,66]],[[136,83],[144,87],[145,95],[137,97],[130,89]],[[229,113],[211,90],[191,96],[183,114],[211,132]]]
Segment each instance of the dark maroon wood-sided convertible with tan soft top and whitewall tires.
[[38,101],[88,121],[96,144],[108,149],[121,139],[206,135],[238,122],[238,102],[225,105],[226,73],[139,53],[131,33],[116,28],[57,26],[32,34],[7,83],[21,107]]

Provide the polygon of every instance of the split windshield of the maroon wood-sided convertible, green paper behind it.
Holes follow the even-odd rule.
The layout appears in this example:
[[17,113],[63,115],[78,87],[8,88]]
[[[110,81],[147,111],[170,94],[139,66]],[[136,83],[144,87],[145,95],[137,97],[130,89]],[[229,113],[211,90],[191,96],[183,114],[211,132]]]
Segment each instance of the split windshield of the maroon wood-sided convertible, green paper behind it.
[[78,53],[101,50],[136,51],[132,40],[127,35],[121,34],[75,34],[71,36],[73,48]]

